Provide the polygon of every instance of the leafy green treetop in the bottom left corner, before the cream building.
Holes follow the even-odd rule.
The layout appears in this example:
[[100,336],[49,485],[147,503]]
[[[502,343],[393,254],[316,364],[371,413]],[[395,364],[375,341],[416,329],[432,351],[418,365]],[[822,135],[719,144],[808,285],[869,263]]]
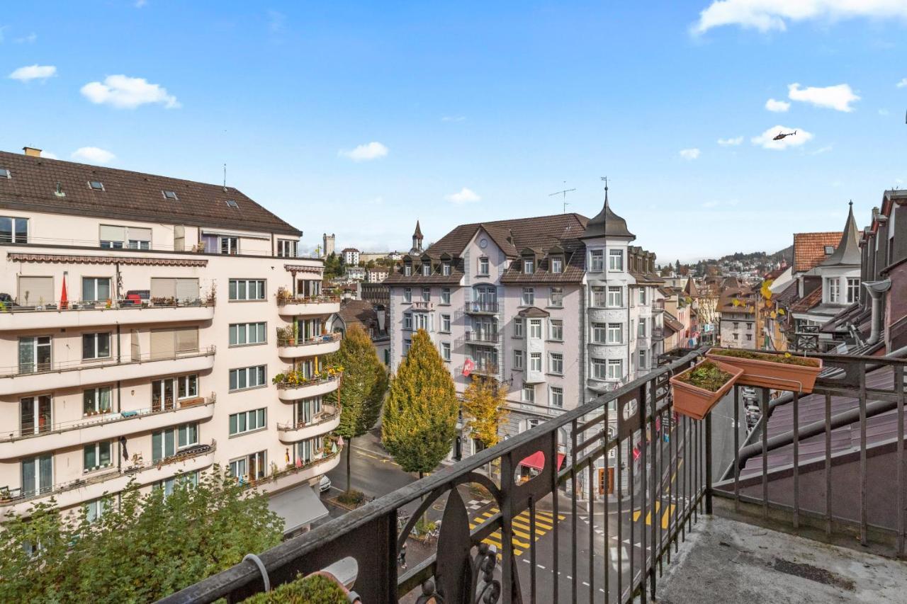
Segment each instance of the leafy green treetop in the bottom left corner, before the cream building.
[[198,484],[178,475],[167,495],[142,495],[131,482],[119,496],[119,506],[116,495],[103,500],[95,521],[87,508],[62,512],[54,500],[6,521],[0,601],[153,601],[283,538],[267,496],[217,466]]

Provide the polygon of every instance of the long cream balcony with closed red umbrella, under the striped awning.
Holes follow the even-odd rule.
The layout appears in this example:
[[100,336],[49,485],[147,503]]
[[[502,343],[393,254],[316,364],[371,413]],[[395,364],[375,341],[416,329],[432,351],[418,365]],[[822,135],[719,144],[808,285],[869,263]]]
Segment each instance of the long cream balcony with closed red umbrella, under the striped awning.
[[8,304],[0,312],[0,331],[46,329],[47,327],[88,327],[96,325],[140,325],[171,321],[210,321],[214,301],[111,300],[106,302],[54,302],[22,307]]

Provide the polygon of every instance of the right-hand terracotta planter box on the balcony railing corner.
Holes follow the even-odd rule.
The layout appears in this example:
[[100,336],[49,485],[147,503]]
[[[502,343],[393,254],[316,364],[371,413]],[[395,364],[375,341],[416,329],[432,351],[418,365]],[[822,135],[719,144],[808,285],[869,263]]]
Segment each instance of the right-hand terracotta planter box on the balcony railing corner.
[[790,353],[770,355],[755,350],[712,348],[706,356],[742,369],[743,375],[738,380],[741,385],[792,390],[807,395],[813,392],[815,377],[822,371],[822,359]]

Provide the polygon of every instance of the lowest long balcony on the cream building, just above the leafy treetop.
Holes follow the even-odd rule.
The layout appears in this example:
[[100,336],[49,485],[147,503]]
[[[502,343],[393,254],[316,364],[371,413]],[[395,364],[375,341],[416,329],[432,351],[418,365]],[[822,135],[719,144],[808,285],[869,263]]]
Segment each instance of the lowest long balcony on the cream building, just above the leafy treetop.
[[[121,492],[134,478],[140,485],[151,484],[171,478],[177,472],[195,472],[204,470],[214,463],[214,452],[217,442],[196,444],[183,451],[165,457],[157,462],[140,463],[128,467],[112,467],[85,474],[70,482],[54,484],[43,492],[23,493],[21,489],[0,492],[0,511],[18,515],[27,515],[32,502],[44,497],[54,496],[60,509],[72,507],[83,502],[90,502],[102,497],[105,493]],[[117,460],[119,462],[119,460]]]

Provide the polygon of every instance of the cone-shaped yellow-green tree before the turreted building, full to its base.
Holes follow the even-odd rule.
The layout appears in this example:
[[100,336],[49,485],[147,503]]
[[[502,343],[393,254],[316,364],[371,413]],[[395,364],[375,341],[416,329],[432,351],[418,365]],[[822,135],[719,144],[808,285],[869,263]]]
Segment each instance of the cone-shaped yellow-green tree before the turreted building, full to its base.
[[381,438],[405,472],[432,472],[456,437],[457,402],[453,378],[432,340],[420,329],[391,380]]

